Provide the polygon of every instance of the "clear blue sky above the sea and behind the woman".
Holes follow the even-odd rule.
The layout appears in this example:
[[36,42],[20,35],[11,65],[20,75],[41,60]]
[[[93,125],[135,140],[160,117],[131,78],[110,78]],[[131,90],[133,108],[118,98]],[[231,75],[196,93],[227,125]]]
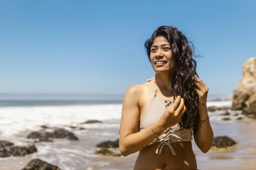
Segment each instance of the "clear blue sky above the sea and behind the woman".
[[0,93],[124,94],[155,75],[161,25],[192,40],[209,94],[232,94],[256,54],[256,1],[1,1]]

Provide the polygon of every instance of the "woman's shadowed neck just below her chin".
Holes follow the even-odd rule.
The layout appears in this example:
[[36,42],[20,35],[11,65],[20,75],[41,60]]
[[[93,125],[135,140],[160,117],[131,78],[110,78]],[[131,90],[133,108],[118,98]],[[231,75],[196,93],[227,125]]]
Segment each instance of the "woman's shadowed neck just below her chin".
[[160,86],[160,88],[164,91],[171,91],[173,89],[173,79],[173,73],[156,73],[155,75],[157,85]]

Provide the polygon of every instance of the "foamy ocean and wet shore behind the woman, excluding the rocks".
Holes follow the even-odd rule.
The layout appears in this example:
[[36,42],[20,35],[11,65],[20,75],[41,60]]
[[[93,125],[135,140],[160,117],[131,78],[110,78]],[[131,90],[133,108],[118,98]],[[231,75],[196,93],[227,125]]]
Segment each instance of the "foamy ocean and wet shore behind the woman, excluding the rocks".
[[[207,102],[207,106],[231,105],[232,101]],[[119,138],[121,111],[122,100],[1,100],[0,140],[15,145],[31,144],[34,140],[26,135],[42,130],[41,125],[64,128],[79,140],[35,143],[38,151],[33,154],[0,158],[0,170],[20,170],[33,158],[57,165],[61,170],[132,170],[138,152],[127,157],[94,155],[97,143]],[[222,116],[225,111],[208,112],[213,133],[228,135],[239,144],[229,152],[202,153],[192,140],[199,169],[250,169],[256,165],[256,121],[241,115],[241,111],[228,111],[230,116]],[[235,116],[236,113],[239,115]],[[230,120],[222,120],[225,117]],[[86,120],[102,123],[80,124]],[[81,127],[85,129],[79,130]]]

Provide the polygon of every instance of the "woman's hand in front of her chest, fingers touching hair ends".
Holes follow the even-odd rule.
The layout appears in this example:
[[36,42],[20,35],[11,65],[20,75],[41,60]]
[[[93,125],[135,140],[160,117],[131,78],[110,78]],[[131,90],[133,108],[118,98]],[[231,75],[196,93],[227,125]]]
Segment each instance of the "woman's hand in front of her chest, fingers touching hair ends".
[[[177,108],[178,105],[179,107]],[[164,129],[167,129],[179,123],[182,120],[186,110],[187,109],[184,105],[184,99],[178,96],[174,103],[165,109],[159,121],[161,122]]]

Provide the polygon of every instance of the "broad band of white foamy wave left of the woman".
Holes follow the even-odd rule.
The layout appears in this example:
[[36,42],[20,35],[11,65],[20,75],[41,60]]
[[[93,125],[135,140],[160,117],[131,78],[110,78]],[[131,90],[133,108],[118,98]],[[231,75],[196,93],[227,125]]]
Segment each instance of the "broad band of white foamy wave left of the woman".
[[[122,104],[0,107],[1,138],[17,135],[22,131],[40,130],[40,125],[67,126],[92,119],[121,119],[121,110]],[[97,125],[85,125],[87,126],[93,128]]]

